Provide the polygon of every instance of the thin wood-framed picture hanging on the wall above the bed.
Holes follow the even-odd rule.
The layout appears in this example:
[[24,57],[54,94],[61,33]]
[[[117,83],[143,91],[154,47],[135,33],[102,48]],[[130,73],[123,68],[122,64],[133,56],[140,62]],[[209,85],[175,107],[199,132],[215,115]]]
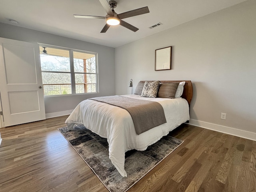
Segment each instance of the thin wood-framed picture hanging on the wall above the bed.
[[170,70],[172,64],[172,46],[155,51],[155,71]]

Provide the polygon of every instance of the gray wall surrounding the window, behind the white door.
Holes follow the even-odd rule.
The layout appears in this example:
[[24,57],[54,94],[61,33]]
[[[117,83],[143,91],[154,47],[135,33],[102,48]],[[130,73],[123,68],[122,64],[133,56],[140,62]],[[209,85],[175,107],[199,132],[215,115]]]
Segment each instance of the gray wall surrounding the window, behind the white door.
[[50,114],[48,116],[58,116],[62,115],[62,112],[73,110],[79,102],[87,98],[115,94],[114,48],[3,23],[0,23],[0,37],[98,53],[99,93],[46,97],[44,98],[46,117],[47,114]]

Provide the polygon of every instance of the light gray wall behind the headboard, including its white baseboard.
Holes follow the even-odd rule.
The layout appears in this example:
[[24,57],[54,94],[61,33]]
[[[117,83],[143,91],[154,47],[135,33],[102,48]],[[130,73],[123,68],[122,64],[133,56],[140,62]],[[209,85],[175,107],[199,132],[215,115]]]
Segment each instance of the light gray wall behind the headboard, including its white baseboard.
[[[116,48],[116,94],[130,93],[131,78],[133,89],[140,80],[191,80],[190,122],[234,135],[256,133],[255,13],[256,1],[248,0]],[[155,50],[167,46],[172,70],[154,71]]]

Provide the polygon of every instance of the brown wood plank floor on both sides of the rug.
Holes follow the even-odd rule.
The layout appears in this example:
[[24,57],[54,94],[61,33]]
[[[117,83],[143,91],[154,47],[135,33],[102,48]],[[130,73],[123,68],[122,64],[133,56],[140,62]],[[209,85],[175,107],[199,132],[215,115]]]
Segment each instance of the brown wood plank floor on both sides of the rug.
[[[0,128],[1,192],[107,192],[57,128],[67,116]],[[184,140],[128,192],[254,192],[256,142],[184,124]]]

